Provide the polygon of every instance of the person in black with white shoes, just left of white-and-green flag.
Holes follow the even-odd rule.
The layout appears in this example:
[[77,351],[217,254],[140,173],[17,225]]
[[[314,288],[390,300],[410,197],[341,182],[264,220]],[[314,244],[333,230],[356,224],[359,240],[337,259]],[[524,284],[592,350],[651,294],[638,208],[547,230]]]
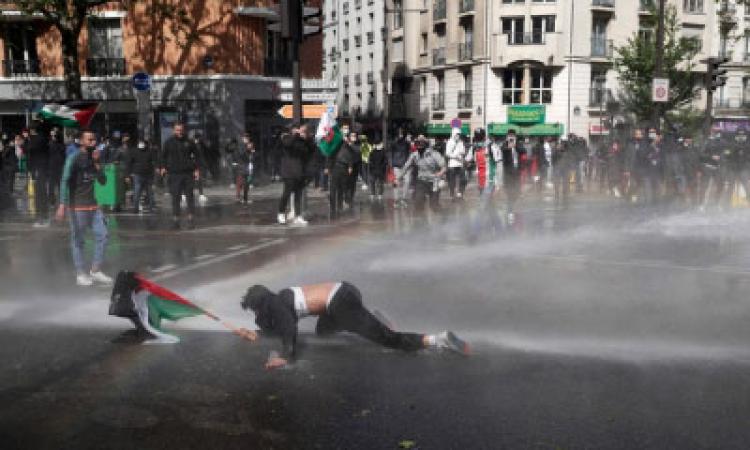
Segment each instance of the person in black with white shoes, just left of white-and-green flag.
[[283,154],[281,157],[281,178],[284,181],[284,192],[279,201],[278,222],[286,223],[286,209],[289,197],[294,194],[295,225],[307,225],[302,217],[302,189],[305,187],[305,165],[309,157],[307,145],[307,126],[292,125],[290,134],[281,137]]

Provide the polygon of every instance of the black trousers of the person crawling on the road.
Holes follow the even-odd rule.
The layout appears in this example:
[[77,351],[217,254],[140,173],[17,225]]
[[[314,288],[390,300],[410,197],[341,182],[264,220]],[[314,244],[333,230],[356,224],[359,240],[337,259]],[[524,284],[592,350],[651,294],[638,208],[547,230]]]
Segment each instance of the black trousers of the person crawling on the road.
[[331,299],[328,310],[321,314],[315,333],[326,336],[337,331],[348,331],[384,347],[412,352],[424,348],[417,333],[393,331],[362,306],[362,295],[354,285],[344,282]]

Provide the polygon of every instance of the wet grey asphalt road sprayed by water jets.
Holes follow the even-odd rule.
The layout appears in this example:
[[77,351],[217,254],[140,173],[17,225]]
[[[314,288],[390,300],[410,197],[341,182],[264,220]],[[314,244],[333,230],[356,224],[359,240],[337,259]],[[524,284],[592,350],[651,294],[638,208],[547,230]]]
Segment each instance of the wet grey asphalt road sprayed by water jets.
[[[317,203],[316,203],[317,202]],[[750,442],[750,212],[655,214],[524,199],[440,217],[364,205],[342,224],[272,225],[231,199],[195,231],[117,216],[131,268],[222,317],[253,283],[345,279],[397,328],[450,328],[474,355],[386,351],[300,325],[300,361],[205,318],[136,345],[109,291],[73,285],[64,228],[0,223],[0,448],[742,449]],[[317,206],[316,206],[317,205]],[[313,208],[320,212],[320,200]],[[499,208],[498,208],[499,209]],[[494,211],[494,208],[490,208]]]

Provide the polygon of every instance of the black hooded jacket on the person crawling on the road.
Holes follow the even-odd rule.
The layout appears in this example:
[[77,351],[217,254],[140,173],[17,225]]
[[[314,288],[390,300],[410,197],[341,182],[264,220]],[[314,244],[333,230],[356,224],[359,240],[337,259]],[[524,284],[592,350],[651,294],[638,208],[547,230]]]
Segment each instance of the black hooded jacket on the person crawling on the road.
[[297,350],[297,322],[294,310],[294,293],[284,289],[278,294],[255,285],[247,290],[242,299],[243,309],[255,312],[255,324],[263,334],[281,338],[281,356],[293,359]]

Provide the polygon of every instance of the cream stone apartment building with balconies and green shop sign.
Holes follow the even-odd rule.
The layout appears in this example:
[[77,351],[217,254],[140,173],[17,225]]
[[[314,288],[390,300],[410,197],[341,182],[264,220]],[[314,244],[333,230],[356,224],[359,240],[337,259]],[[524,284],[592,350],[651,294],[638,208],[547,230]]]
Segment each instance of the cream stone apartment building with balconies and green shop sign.
[[[400,20],[387,18],[391,110],[405,109],[403,116],[428,132],[444,133],[458,118],[491,134],[512,128],[529,136],[572,132],[599,139],[613,121],[624,120],[612,112],[619,91],[614,49],[656,32],[648,0],[388,2],[403,11]],[[668,3],[677,9],[682,35],[701,42],[697,72],[705,73],[700,60],[708,56],[731,56],[717,114],[746,118],[750,10],[733,2]],[[705,97],[696,99],[696,107],[704,105]]]

